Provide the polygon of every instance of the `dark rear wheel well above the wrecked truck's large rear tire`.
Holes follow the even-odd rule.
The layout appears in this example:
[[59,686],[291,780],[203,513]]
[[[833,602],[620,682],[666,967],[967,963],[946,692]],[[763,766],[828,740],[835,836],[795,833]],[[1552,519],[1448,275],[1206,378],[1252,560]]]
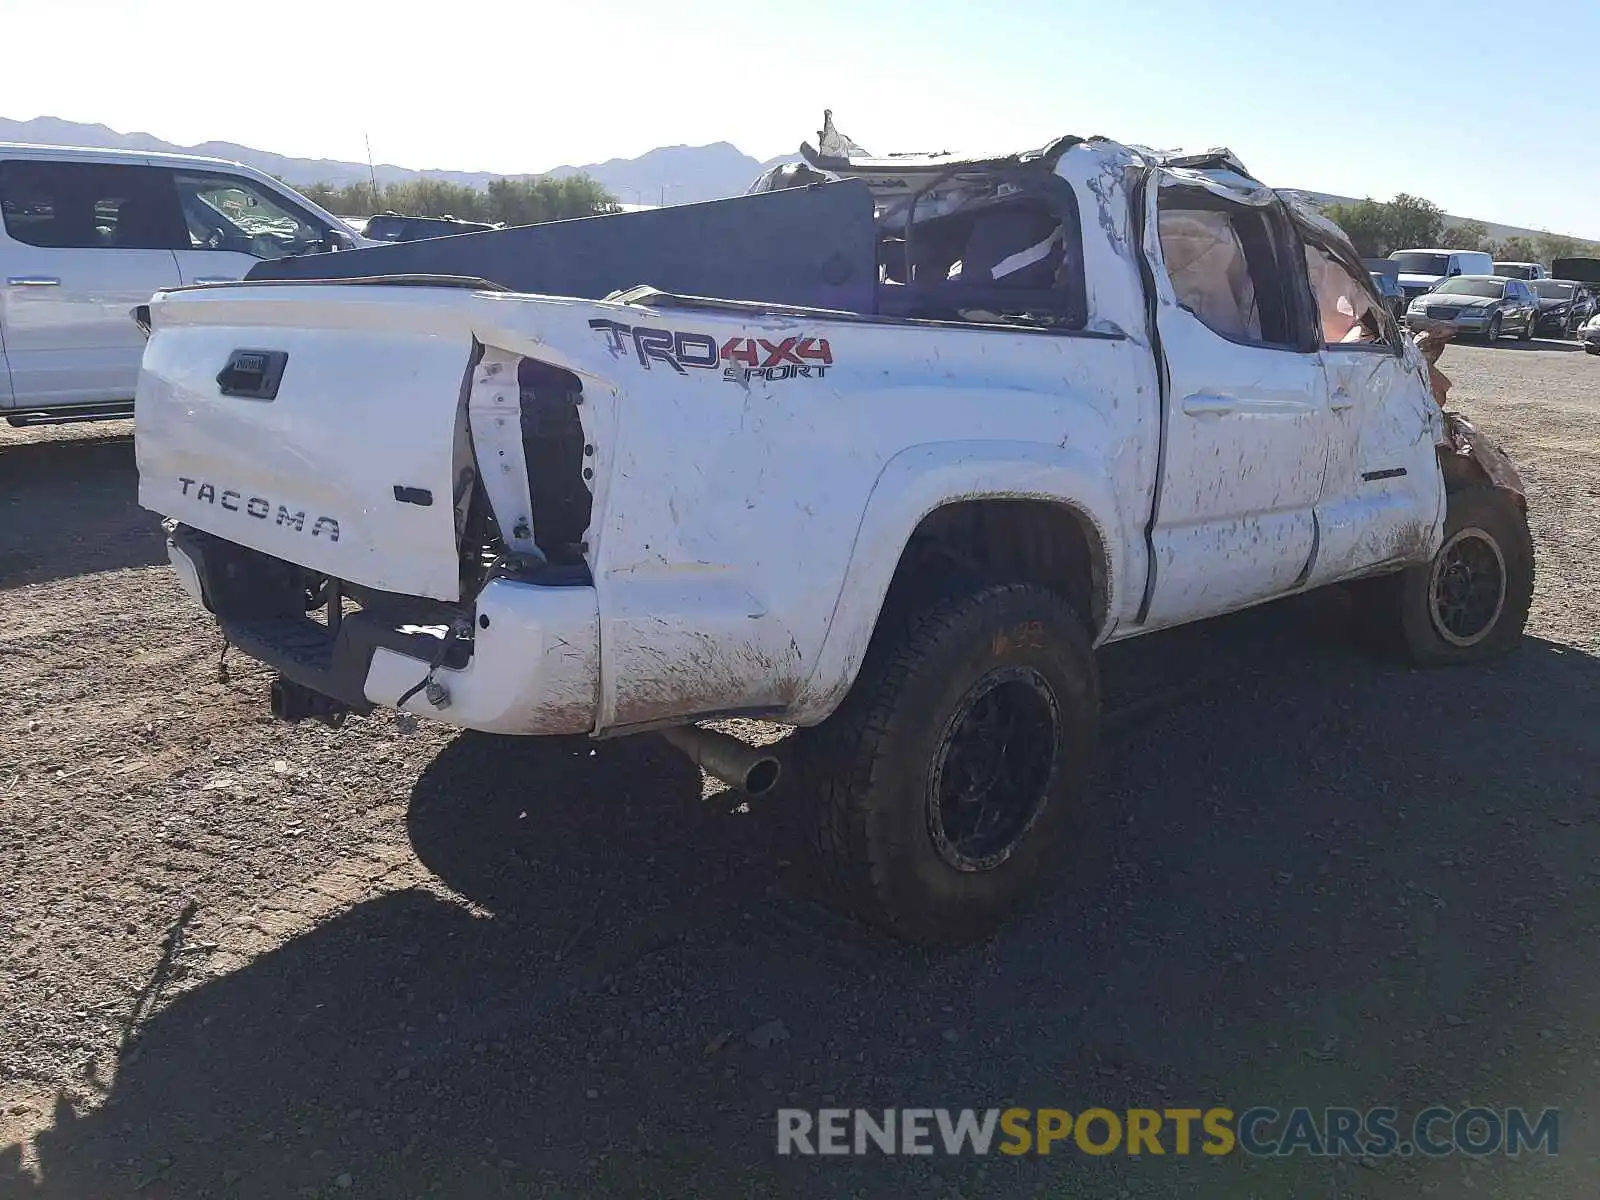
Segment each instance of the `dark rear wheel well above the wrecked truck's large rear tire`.
[[952,574],[1040,584],[1072,605],[1090,637],[1106,624],[1106,549],[1094,523],[1067,504],[974,499],[934,509],[906,542],[890,595]]

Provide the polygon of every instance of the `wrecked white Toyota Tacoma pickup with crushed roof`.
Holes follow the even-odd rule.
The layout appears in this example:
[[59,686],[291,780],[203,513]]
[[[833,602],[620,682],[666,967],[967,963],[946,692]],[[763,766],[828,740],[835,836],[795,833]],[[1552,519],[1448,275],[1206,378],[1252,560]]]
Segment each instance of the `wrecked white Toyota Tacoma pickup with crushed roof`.
[[802,726],[838,899],[950,942],[1058,861],[1094,646],[1342,582],[1416,662],[1517,643],[1515,470],[1232,155],[806,157],[152,301],[139,498],[280,717],[659,730],[752,790],[694,723]]

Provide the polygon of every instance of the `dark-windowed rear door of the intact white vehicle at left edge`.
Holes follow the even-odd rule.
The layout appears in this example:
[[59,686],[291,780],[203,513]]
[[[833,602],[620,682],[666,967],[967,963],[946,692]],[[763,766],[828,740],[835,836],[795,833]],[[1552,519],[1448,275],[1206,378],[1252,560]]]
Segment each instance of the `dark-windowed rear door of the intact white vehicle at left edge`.
[[150,166],[0,160],[0,330],[11,406],[131,402],[131,309],[178,283],[178,208]]

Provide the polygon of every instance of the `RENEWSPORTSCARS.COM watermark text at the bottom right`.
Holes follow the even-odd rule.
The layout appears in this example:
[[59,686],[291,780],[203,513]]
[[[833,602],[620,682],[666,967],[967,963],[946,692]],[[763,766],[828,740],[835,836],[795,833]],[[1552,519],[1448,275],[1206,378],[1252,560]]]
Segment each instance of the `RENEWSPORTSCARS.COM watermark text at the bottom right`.
[[1560,1112],[1398,1109],[779,1109],[778,1154],[1128,1154],[1384,1158],[1560,1150]]

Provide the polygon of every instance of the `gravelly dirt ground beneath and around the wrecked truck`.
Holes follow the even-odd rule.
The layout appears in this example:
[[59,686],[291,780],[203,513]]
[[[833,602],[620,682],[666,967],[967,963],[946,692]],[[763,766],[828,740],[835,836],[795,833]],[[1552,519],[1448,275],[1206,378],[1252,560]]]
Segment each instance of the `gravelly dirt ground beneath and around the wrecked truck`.
[[[1530,637],[1338,595],[1106,651],[1106,845],[984,946],[826,917],[650,741],[266,712],[125,426],[0,432],[0,1195],[1592,1197],[1600,360],[1451,347],[1530,483]],[[779,1022],[779,1024],[774,1024]],[[774,1110],[1558,1107],[1509,1160],[778,1158]]]

